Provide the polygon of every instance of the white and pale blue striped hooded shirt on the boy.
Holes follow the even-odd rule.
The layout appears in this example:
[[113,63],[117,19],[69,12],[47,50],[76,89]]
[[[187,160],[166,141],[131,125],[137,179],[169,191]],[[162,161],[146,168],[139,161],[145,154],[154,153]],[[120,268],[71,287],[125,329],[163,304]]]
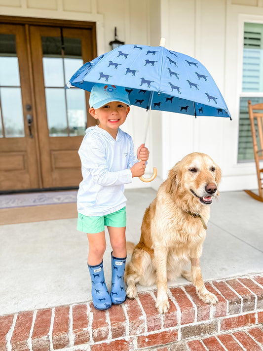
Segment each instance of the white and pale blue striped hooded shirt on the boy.
[[138,162],[131,136],[118,129],[114,140],[97,125],[89,127],[78,154],[83,177],[77,193],[78,213],[103,216],[124,207],[124,184],[131,183],[130,167]]

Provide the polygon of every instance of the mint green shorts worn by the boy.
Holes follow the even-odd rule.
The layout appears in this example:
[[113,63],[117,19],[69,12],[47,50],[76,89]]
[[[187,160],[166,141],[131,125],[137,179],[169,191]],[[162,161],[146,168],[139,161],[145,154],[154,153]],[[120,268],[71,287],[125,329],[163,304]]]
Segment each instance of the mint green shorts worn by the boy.
[[78,213],[77,230],[84,233],[94,234],[104,231],[104,227],[126,227],[126,207],[105,216],[89,217]]

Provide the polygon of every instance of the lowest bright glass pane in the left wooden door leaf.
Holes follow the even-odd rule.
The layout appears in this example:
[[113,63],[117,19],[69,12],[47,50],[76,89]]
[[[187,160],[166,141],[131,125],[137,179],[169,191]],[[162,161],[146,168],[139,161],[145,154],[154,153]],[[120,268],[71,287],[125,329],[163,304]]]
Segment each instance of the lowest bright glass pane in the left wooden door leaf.
[[25,136],[20,88],[0,87],[0,100],[5,137]]

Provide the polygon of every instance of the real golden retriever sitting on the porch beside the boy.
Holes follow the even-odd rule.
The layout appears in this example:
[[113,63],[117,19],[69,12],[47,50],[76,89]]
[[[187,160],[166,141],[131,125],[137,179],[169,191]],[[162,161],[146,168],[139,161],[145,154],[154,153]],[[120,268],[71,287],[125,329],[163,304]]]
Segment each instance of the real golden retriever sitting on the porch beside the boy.
[[[157,285],[155,307],[159,313],[169,310],[167,281],[182,275],[196,288],[205,303],[216,304],[217,297],[203,282],[199,258],[206,235],[212,198],[219,195],[220,167],[206,154],[185,156],[169,171],[156,198],[146,209],[140,242],[127,263],[124,281],[126,295],[137,296],[136,283]],[[127,250],[129,245],[127,242]],[[191,263],[190,271],[185,266]]]

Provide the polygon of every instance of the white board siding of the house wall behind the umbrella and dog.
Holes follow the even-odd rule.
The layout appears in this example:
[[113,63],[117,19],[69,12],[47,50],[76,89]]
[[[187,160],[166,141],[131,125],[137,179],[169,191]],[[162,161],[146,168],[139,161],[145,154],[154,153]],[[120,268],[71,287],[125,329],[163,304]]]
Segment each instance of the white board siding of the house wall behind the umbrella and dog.
[[[198,151],[212,156],[223,171],[222,191],[257,189],[255,163],[238,163],[239,96],[242,84],[243,23],[263,23],[263,0],[0,0],[0,13],[10,16],[93,21],[98,54],[109,51],[114,27],[126,43],[165,46],[202,62],[225,98],[233,120],[154,112],[147,146],[158,169],[157,188],[183,156]],[[144,142],[146,113],[132,107],[124,130],[135,147]]]

